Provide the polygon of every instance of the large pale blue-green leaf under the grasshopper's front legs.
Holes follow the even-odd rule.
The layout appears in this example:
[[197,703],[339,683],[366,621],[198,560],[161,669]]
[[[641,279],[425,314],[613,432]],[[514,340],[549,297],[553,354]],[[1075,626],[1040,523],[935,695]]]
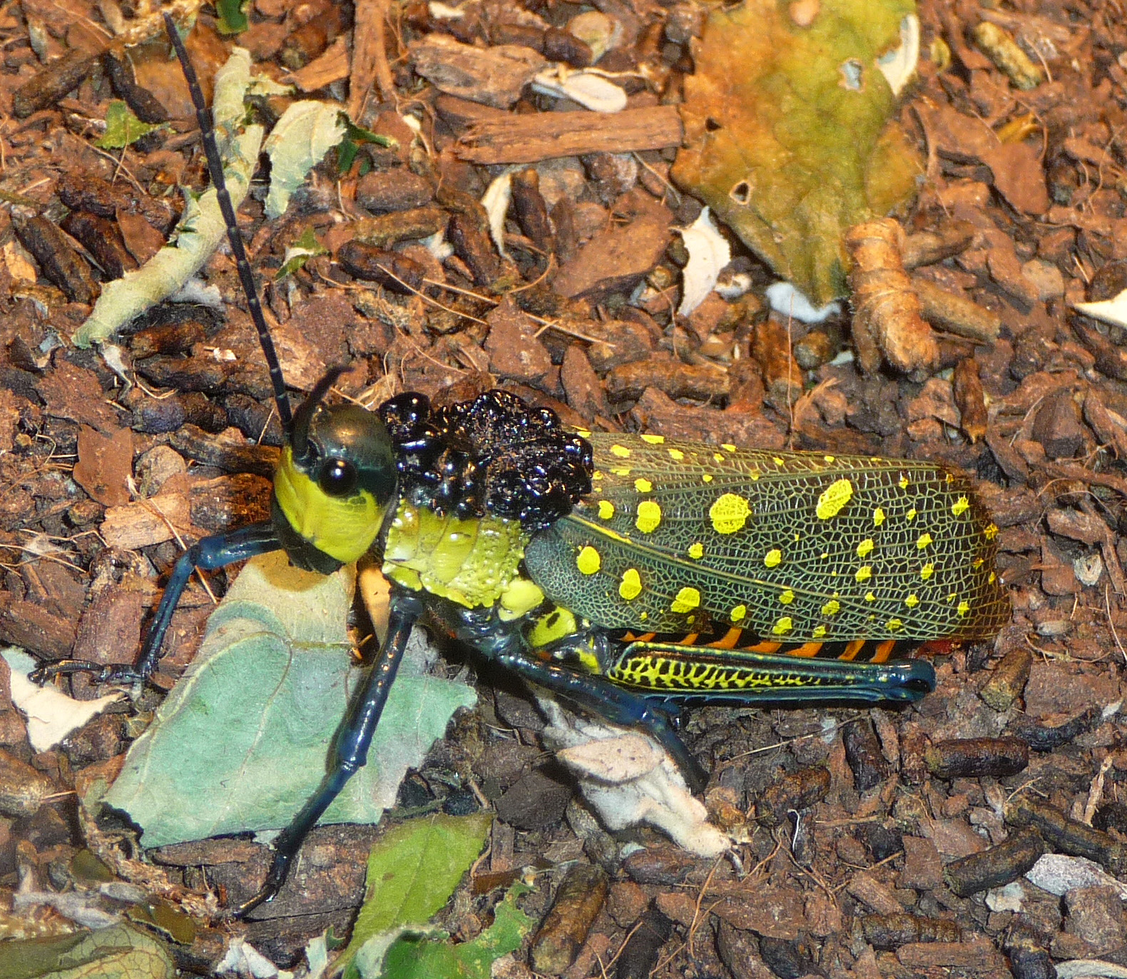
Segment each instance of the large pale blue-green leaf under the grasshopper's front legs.
[[[345,632],[353,590],[350,568],[302,572],[281,552],[247,564],[104,799],[143,828],[145,846],[290,822],[325,774],[361,680]],[[406,769],[473,704],[471,688],[426,673],[435,654],[423,636],[408,645],[369,764],[323,822],[379,822]]]

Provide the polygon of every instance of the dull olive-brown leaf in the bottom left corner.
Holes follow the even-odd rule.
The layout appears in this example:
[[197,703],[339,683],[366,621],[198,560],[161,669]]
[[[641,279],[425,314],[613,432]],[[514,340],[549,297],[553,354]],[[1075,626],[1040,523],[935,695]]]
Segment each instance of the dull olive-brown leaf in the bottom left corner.
[[162,942],[126,925],[0,942],[0,979],[172,979]]

